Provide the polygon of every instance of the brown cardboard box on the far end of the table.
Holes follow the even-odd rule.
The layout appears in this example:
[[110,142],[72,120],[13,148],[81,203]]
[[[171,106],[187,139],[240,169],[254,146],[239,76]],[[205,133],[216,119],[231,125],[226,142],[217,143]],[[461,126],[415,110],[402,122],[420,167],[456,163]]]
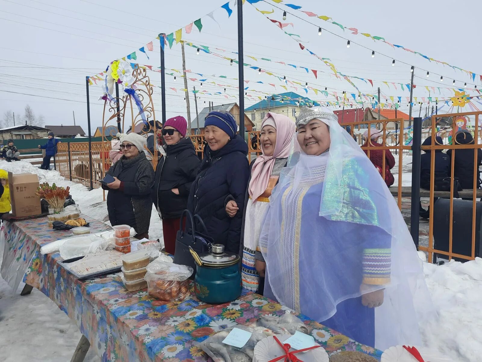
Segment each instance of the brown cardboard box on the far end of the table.
[[32,173],[8,173],[10,202],[13,216],[40,215],[40,197],[35,195],[39,187],[39,177]]

